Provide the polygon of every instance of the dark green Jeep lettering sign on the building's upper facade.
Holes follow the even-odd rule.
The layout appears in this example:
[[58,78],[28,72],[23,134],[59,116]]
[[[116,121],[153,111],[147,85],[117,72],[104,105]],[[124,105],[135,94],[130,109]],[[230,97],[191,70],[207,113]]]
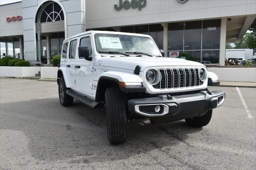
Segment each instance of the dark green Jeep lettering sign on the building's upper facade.
[[138,10],[141,10],[141,8],[145,7],[147,4],[146,0],[131,0],[129,2],[128,0],[125,0],[122,2],[122,0],[119,0],[119,6],[116,4],[114,5],[115,10],[122,10],[122,8],[128,10],[130,7],[132,8],[138,8]]

